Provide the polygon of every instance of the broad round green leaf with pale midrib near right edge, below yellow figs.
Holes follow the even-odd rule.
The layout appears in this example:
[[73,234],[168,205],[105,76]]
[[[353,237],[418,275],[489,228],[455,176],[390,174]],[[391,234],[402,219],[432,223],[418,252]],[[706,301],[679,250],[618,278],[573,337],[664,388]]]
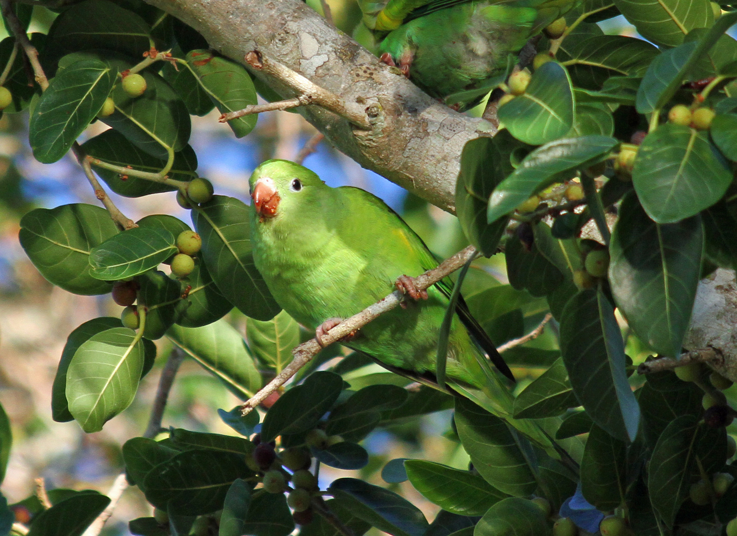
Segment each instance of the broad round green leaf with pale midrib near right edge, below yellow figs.
[[673,223],[719,201],[732,182],[727,161],[708,133],[661,124],[638,150],[632,184],[648,216]]

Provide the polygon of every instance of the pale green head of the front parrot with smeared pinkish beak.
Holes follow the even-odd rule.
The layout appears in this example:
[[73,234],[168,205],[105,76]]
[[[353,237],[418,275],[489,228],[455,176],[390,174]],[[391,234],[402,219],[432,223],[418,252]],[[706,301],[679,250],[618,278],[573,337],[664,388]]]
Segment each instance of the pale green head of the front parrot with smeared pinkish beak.
[[300,214],[318,191],[326,188],[314,172],[287,160],[269,160],[254,170],[249,181],[253,207],[260,221],[284,213]]

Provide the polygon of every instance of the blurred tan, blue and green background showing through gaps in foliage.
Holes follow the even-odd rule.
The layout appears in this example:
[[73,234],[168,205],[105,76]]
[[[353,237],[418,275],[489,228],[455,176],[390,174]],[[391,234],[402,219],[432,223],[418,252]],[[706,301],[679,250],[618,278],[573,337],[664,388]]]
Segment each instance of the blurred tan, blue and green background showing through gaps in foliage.
[[[319,0],[307,4],[321,12]],[[329,5],[336,26],[352,33],[360,20],[354,0],[329,0]],[[43,11],[42,17],[36,16],[30,31],[46,32],[52,15]],[[607,33],[633,34],[623,18],[601,25]],[[5,37],[2,32],[4,29],[0,29],[0,38]],[[479,114],[481,110],[469,113]],[[316,134],[296,113],[271,112],[259,116],[256,130],[238,140],[225,124],[217,122],[218,116],[214,111],[206,117],[192,117],[190,144],[198,155],[198,174],[212,180],[217,194],[246,202],[248,177],[259,163],[268,158],[294,159]],[[84,434],[75,422],[52,420],[52,381],[66,336],[91,318],[119,316],[122,308],[109,295],[77,296],[52,286],[38,274],[21,249],[18,222],[30,209],[71,202],[99,204],[71,155],[52,165],[43,165],[32,158],[27,121],[27,113],[4,114],[0,119],[0,402],[13,427],[13,450],[2,493],[11,504],[32,494],[34,479],[38,477],[44,479],[48,488],[93,488],[105,493],[122,470],[120,446],[144,431],[158,370],[172,347],[165,337],[156,342],[158,359],[153,372],[142,381],[130,408],[108,422],[103,431]],[[105,128],[98,121],[85,133],[85,139]],[[409,197],[399,186],[362,169],[326,143],[318,144],[304,165],[318,172],[330,186],[358,186],[383,198],[405,217],[437,255],[445,257],[464,247],[455,217]],[[111,197],[134,220],[148,214],[172,214],[191,224],[187,211],[175,202],[174,193],[136,200],[112,193]],[[506,283],[503,266],[502,255],[496,255],[485,267],[500,283]],[[242,325],[242,317],[232,314],[231,320]],[[172,389],[164,426],[231,434],[231,429],[217,416],[217,409],[231,409],[239,402],[217,379],[187,360]],[[450,431],[449,417],[449,412],[440,412],[395,429],[375,431],[365,442],[372,459],[363,473],[374,474],[374,483],[382,484],[377,470],[397,457],[423,457],[466,468],[467,456],[456,442],[444,437]],[[330,482],[349,473],[330,470],[321,476]],[[432,519],[436,507],[425,502],[410,484],[401,486],[401,493]],[[128,520],[150,515],[150,511],[142,493],[130,488],[105,531],[127,534]]]

